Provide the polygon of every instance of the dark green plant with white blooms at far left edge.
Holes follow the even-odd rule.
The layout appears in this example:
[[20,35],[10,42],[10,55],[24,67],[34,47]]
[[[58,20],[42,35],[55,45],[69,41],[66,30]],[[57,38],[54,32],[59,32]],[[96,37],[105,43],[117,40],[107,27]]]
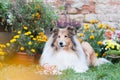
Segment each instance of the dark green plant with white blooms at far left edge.
[[9,11],[10,1],[0,1],[0,31],[11,31],[12,23],[14,21],[14,17],[12,13]]

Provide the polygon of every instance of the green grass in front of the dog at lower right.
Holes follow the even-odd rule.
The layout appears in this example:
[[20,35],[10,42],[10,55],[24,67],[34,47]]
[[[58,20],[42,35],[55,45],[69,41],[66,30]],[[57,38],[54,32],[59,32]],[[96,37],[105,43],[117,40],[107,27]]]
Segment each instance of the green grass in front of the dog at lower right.
[[90,67],[86,73],[75,73],[72,69],[65,70],[56,80],[119,80],[120,63],[104,64]]

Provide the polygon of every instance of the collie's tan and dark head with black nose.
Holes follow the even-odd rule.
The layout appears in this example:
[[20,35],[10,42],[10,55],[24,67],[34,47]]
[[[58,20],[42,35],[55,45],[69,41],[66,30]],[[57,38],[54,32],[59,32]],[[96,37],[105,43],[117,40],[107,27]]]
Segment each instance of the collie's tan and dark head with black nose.
[[68,28],[61,28],[53,30],[53,42],[51,44],[52,47],[55,47],[56,50],[58,49],[72,49],[75,50],[75,42],[74,42],[74,35],[75,30],[72,27]]

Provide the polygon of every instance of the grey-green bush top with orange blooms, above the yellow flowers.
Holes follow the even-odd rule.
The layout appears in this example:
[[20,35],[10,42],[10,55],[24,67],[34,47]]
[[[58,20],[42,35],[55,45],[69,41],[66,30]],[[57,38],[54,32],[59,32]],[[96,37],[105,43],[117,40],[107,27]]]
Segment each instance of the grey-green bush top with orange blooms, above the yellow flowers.
[[13,24],[15,30],[21,30],[22,26],[25,25],[28,26],[30,31],[38,33],[55,26],[57,15],[42,0],[28,3],[25,3],[24,0],[16,0],[11,7],[11,11],[15,16]]

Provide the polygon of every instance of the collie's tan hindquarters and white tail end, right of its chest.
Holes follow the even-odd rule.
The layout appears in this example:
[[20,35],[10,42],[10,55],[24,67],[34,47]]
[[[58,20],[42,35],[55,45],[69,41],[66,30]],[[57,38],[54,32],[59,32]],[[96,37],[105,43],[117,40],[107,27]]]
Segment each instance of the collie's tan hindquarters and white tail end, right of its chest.
[[88,42],[82,42],[81,45],[84,50],[84,53],[87,56],[89,65],[99,66],[101,64],[110,63],[110,61],[108,61],[105,58],[97,58],[94,49],[91,47],[91,45]]

